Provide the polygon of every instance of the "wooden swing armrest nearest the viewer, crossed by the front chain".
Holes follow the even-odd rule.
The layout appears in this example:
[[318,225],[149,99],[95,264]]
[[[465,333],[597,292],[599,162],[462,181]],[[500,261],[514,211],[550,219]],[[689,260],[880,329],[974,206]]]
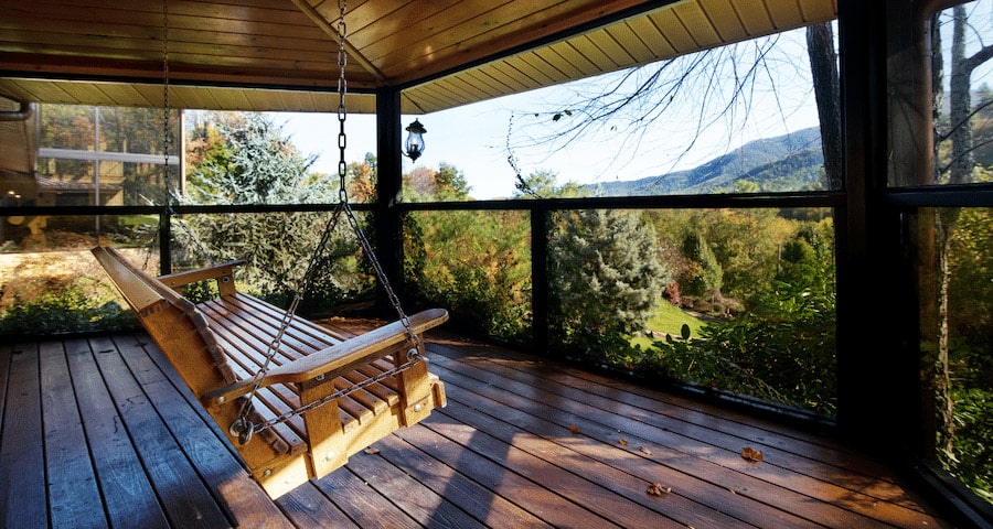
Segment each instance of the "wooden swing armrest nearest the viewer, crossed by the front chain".
[[[444,309],[429,309],[409,316],[414,333],[418,335],[429,328],[441,325],[447,320],[448,311]],[[407,328],[402,322],[396,321],[289,364],[269,369],[259,388],[274,384],[306,382],[318,377],[333,379],[362,364],[369,364],[374,359],[388,355],[406,339]],[[215,408],[248,395],[254,386],[255,378],[238,380],[205,392],[201,397],[201,401],[209,409]]]

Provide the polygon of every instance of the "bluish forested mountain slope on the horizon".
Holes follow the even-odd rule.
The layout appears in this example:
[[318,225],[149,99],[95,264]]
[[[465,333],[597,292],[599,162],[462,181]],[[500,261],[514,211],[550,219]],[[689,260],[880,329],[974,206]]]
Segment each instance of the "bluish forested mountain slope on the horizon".
[[626,182],[597,184],[597,196],[728,193],[738,181],[759,191],[820,188],[824,155],[818,127],[741,145],[697,168]]

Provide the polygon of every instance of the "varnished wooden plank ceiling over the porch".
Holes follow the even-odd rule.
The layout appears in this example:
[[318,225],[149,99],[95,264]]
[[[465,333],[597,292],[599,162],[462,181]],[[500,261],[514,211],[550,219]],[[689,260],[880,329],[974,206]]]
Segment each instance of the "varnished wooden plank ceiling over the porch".
[[[167,3],[168,2],[168,3]],[[426,114],[835,18],[836,0],[352,0],[349,111]],[[334,111],[337,0],[0,0],[17,101]],[[168,57],[168,62],[164,61]]]

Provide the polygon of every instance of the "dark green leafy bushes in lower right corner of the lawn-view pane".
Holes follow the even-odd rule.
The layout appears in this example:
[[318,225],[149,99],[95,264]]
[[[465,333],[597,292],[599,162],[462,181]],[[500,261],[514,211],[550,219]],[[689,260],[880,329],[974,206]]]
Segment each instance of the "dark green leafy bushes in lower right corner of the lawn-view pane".
[[772,283],[748,311],[623,354],[620,365],[715,390],[834,413],[835,320],[830,219],[797,222]]

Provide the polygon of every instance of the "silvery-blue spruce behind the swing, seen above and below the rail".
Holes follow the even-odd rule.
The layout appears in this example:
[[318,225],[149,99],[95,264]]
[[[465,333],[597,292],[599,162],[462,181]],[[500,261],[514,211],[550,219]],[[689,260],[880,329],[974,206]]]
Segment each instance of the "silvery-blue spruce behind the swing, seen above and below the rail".
[[[313,156],[305,158],[282,134],[281,127],[258,114],[216,115],[216,121],[196,128],[190,172],[192,202],[211,204],[281,204],[337,202],[337,179],[309,173]],[[352,180],[369,179],[366,165],[353,164]],[[372,160],[374,163],[374,160]],[[362,187],[360,187],[362,188]],[[239,281],[286,303],[302,294],[302,281],[311,259],[312,278],[302,312],[325,313],[350,295],[369,290],[372,280],[360,270],[359,244],[341,218],[325,252],[314,257],[330,213],[269,213],[197,215],[188,219],[194,238],[215,260],[245,259]],[[195,241],[173,230],[185,253],[180,262],[195,259]]]

